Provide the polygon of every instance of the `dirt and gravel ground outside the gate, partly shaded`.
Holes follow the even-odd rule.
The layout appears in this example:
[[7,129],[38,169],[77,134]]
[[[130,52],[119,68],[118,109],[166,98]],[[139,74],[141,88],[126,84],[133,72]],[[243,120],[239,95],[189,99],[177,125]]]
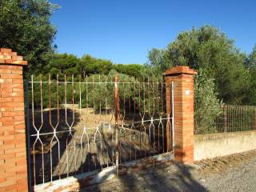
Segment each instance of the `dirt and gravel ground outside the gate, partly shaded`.
[[73,191],[256,191],[256,150],[182,165],[130,169],[99,185]]

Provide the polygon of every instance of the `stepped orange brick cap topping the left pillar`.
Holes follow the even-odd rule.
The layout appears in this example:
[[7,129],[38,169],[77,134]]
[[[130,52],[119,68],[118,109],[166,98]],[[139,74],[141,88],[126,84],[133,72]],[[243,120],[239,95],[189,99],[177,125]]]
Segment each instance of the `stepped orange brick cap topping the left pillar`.
[[17,55],[17,53],[13,52],[11,49],[1,48],[0,65],[2,64],[26,66],[27,61],[24,61],[22,56]]

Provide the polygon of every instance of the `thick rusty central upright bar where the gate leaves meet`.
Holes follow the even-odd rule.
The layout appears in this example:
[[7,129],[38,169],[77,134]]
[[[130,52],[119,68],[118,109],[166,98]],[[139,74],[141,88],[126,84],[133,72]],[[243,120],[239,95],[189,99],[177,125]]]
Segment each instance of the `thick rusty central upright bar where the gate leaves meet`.
[[115,164],[117,167],[118,174],[118,165],[119,165],[119,151],[118,151],[118,114],[119,114],[119,101],[118,101],[118,76],[114,78],[114,118],[115,118]]

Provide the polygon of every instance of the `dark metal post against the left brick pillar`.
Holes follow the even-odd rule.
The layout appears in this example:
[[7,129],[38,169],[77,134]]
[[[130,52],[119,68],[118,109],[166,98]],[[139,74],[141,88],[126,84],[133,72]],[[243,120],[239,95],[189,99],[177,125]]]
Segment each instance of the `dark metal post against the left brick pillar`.
[[32,190],[32,172],[31,172],[31,162],[30,162],[30,102],[29,102],[29,82],[28,79],[25,80],[25,98],[26,98],[26,158],[27,163],[29,166],[27,166],[28,171],[28,190]]

